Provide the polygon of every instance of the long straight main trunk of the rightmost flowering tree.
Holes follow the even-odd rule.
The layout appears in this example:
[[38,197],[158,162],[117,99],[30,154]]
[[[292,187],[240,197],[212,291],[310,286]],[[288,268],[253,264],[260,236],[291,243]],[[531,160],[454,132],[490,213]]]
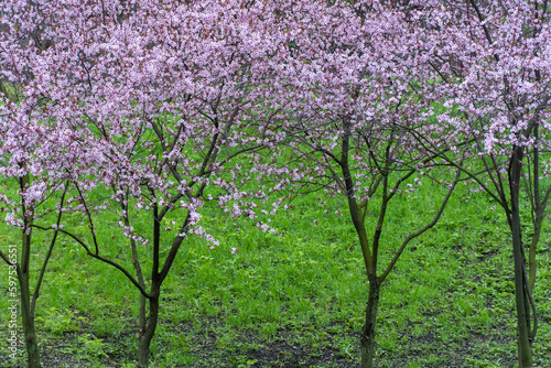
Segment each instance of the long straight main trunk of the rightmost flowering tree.
[[532,351],[529,338],[529,321],[526,305],[528,304],[525,279],[522,272],[522,239],[520,226],[519,208],[519,183],[520,171],[522,166],[522,149],[516,148],[510,162],[509,186],[511,195],[511,236],[512,236],[512,257],[515,261],[515,301],[517,306],[517,343],[518,361],[520,368],[532,367]]

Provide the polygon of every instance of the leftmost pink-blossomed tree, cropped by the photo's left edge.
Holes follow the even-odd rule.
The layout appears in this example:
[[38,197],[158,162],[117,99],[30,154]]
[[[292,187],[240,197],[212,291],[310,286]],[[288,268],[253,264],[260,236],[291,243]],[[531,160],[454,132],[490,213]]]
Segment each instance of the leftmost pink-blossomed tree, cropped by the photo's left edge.
[[39,8],[24,3],[0,4],[0,176],[7,184],[2,186],[0,201],[6,220],[22,234],[21,246],[10,245],[9,253],[0,251],[0,257],[9,264],[10,286],[19,284],[19,288],[10,288],[10,297],[15,299],[15,290],[19,290],[31,368],[40,367],[34,315],[57,239],[55,231],[39,266],[36,283],[31,289],[32,252],[35,250],[32,225],[36,219],[50,218],[48,214],[56,212],[55,224],[60,226],[68,180],[63,170],[68,164],[67,155],[57,144],[66,132],[36,125],[36,113],[44,107],[44,100],[41,96],[26,98],[25,95],[33,79],[28,66],[48,47],[48,43],[42,39],[44,23],[39,15]]

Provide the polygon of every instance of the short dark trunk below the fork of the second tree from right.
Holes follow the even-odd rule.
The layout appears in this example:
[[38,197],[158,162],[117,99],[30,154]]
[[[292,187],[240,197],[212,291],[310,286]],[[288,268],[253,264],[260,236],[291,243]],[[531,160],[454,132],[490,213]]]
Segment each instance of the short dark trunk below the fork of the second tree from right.
[[374,367],[375,326],[377,323],[377,307],[379,306],[380,285],[377,277],[371,279],[374,280],[370,280],[369,282],[369,297],[367,301],[366,323],[364,325],[364,328],[361,328],[360,336],[361,368]]

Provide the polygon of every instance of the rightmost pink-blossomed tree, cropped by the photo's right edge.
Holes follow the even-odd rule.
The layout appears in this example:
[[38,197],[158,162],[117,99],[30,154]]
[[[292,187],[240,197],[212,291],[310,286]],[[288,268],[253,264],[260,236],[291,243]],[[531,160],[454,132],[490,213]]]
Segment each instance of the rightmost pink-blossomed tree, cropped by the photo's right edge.
[[[426,53],[440,74],[440,95],[447,108],[439,120],[474,140],[478,160],[464,171],[503,207],[510,227],[520,367],[532,366],[536,247],[551,194],[543,181],[550,164],[548,12],[547,1],[522,0],[434,1],[419,12],[434,23],[434,47]],[[453,163],[453,158],[444,159]],[[520,217],[522,181],[532,209],[530,277]]]

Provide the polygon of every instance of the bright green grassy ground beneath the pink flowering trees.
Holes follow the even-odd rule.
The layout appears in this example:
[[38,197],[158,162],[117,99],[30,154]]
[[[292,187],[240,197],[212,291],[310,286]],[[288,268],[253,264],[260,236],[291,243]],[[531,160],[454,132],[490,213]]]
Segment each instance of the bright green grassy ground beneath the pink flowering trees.
[[[425,185],[392,204],[382,264],[434,208],[434,191]],[[482,194],[467,201],[466,191],[457,192],[440,224],[407,249],[382,288],[378,367],[515,366],[511,251],[505,220],[491,206]],[[283,234],[278,236],[213,209],[203,220],[220,247],[184,242],[164,284],[152,366],[357,366],[367,282],[346,214],[337,199],[321,207],[315,195],[299,198],[274,217],[273,227]],[[2,249],[20,237],[7,227],[1,231]],[[50,236],[35,234],[37,259]],[[536,364],[543,367],[551,366],[550,239],[545,224],[533,345]],[[130,251],[112,247],[106,252],[121,260]],[[7,267],[0,272],[7,275]],[[7,295],[7,277],[0,286]],[[138,300],[120,272],[61,238],[39,299],[44,366],[133,367]],[[15,367],[4,343],[8,297],[2,295],[0,307],[0,367]]]

